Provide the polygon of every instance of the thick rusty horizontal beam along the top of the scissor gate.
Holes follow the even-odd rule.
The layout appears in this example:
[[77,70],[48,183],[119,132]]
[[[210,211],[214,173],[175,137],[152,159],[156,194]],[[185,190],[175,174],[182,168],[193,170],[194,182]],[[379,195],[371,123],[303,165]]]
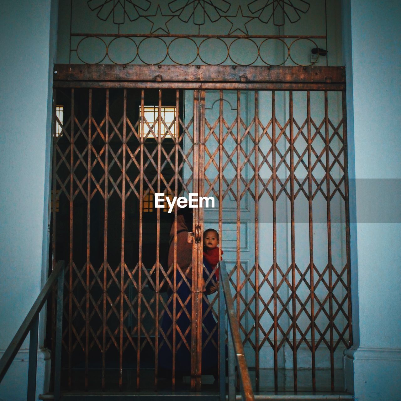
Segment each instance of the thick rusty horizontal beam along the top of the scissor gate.
[[[342,90],[344,67],[56,64],[55,87]],[[72,84],[72,85],[71,85]]]

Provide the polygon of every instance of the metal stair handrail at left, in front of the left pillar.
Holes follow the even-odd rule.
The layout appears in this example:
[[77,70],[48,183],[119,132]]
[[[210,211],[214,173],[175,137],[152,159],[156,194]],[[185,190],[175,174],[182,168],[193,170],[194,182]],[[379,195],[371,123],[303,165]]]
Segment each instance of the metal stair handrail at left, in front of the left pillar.
[[[7,347],[2,358],[0,359],[0,383],[6,375],[8,368],[14,360],[18,350],[24,342],[28,332],[31,332],[29,339],[29,360],[28,360],[28,397],[27,400],[34,400],[36,393],[36,369],[37,369],[37,352],[38,352],[38,333],[39,333],[39,313],[41,312],[43,305],[49,298],[56,281],[57,285],[57,322],[62,319],[62,300],[63,300],[63,285],[64,285],[64,267],[65,262],[59,261],[55,265],[55,268],[51,272],[47,282],[43,286],[41,292],[33,303],[32,308],[29,310],[26,318],[22,322],[20,328],[16,332],[14,338],[11,340],[10,345]],[[60,302],[61,299],[61,302]],[[60,332],[56,333],[56,348],[57,337],[61,336],[61,325]],[[57,356],[56,350],[56,368],[59,364],[59,356]],[[55,389],[57,388],[55,383]],[[59,390],[59,384],[58,384]],[[56,392],[56,391],[55,391]],[[56,394],[55,394],[56,399]],[[57,398],[58,399],[58,398]]]

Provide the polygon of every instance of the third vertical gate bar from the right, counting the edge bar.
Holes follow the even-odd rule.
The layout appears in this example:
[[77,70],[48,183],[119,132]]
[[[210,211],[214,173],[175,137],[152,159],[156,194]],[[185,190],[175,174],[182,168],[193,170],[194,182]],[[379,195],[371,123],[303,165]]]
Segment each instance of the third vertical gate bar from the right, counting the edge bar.
[[315,357],[315,281],[313,262],[313,214],[312,214],[312,140],[311,140],[311,99],[306,92],[307,130],[308,130],[308,211],[309,211],[309,277],[311,286],[311,351],[312,351],[312,390],[316,391]]

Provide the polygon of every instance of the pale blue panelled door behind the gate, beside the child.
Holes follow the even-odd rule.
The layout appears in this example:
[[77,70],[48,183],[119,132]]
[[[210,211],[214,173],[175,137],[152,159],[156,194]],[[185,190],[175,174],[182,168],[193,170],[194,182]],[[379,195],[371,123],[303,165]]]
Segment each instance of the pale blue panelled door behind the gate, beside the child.
[[[204,209],[204,229],[219,232],[232,292],[241,294],[235,296],[238,322],[247,333],[254,324],[248,312],[253,309],[252,288],[244,281],[254,265],[254,201],[248,190],[254,174],[252,155],[248,156],[253,146],[249,131],[254,131],[252,95],[252,91],[205,92],[203,167],[204,192],[216,198],[214,209]],[[208,298],[217,312],[217,293]],[[248,346],[245,343],[246,350]]]

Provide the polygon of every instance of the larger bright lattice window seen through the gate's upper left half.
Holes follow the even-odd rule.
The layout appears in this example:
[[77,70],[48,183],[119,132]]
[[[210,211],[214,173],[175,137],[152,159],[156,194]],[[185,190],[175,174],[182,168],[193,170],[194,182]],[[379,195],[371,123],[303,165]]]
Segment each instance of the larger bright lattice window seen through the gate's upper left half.
[[[160,115],[161,115],[161,135],[164,138],[175,138],[175,106],[162,106]],[[146,122],[144,123],[144,132],[141,132],[142,136],[146,138],[155,138],[159,134],[159,123],[157,122],[157,116],[159,114],[159,107],[158,106],[144,106],[144,117],[146,122],[149,124],[150,127],[153,126],[152,130],[149,130],[148,125]],[[142,117],[142,109],[139,107],[139,116]],[[165,124],[163,124],[163,121]],[[156,123],[155,123],[156,122]],[[169,127],[169,130],[167,130]],[[140,130],[142,129],[142,125],[140,124]],[[170,131],[170,132],[169,132]],[[155,135],[153,134],[155,133]],[[171,133],[171,134],[170,134]],[[149,134],[149,135],[148,135]]]

